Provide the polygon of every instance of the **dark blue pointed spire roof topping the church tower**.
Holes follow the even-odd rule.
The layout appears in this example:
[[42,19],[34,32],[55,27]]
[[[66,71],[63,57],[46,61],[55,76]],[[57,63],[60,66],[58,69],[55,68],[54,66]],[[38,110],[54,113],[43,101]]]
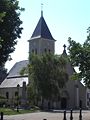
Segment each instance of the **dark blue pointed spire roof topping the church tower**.
[[34,39],[34,38],[45,38],[45,39],[50,39],[50,40],[55,40],[52,35],[51,35],[51,32],[44,20],[44,17],[43,17],[43,13],[41,11],[41,17],[39,19],[39,22],[31,36],[31,39]]

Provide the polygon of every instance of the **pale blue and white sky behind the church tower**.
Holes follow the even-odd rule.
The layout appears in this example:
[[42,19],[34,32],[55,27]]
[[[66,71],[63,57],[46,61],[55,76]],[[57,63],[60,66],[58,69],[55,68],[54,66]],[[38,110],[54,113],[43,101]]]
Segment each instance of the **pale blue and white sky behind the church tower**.
[[90,0],[19,0],[19,5],[25,8],[21,13],[23,32],[18,40],[16,50],[11,54],[12,61],[6,63],[10,68],[18,61],[28,59],[28,40],[30,39],[41,16],[43,16],[56,41],[55,53],[61,54],[63,44],[68,46],[68,37],[83,43],[87,37],[87,28],[90,26]]

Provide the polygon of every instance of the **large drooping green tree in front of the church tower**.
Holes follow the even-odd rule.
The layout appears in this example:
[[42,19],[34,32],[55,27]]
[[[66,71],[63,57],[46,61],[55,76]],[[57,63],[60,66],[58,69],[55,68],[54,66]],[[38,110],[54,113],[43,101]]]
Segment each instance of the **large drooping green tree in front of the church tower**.
[[30,57],[28,94],[33,93],[33,101],[41,97],[42,100],[55,100],[60,95],[61,88],[68,80],[65,65],[66,60],[62,56],[44,54]]

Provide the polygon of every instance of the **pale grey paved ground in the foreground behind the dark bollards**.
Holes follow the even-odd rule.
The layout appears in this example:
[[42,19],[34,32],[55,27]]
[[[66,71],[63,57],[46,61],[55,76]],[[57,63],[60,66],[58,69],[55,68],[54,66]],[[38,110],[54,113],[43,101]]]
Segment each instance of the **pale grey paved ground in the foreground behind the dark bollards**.
[[[28,114],[19,114],[4,116],[4,120],[63,120],[63,113],[61,112],[37,112]],[[70,120],[70,113],[67,112],[67,120]],[[79,111],[74,111],[73,120],[79,120]],[[90,120],[90,111],[82,112],[82,120]]]

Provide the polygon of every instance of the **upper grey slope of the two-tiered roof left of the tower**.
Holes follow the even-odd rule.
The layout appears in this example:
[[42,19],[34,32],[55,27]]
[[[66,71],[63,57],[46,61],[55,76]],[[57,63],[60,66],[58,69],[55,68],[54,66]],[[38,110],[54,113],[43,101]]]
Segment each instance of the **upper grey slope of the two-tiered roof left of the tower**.
[[20,71],[26,67],[28,65],[28,60],[23,60],[20,62],[17,62],[9,71],[9,74],[7,76],[7,78],[10,77],[19,77],[20,75]]

